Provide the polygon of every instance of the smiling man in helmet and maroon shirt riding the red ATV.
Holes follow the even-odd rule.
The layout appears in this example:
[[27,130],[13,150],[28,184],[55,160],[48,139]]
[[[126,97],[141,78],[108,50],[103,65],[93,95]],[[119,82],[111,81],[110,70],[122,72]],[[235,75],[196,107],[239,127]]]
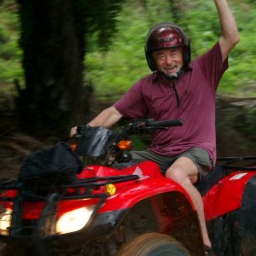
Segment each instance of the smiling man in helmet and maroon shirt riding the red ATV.
[[[150,30],[145,54],[152,71],[113,106],[103,110],[89,125],[110,127],[121,117],[147,116],[155,120],[182,119],[183,126],[153,135],[146,151],[135,159],[157,162],[165,177],[185,188],[198,212],[206,255],[210,255],[202,198],[193,184],[216,162],[215,95],[228,68],[227,57],[239,41],[236,22],[226,0],[215,0],[221,37],[209,51],[190,62],[190,45],[175,24],[163,23]],[[71,136],[76,127],[71,130]]]

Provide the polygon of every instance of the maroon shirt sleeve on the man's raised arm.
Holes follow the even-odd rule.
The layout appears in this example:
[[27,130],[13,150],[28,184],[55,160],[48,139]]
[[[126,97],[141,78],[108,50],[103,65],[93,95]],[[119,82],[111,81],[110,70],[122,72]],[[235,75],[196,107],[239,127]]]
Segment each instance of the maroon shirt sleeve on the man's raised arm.
[[205,78],[210,82],[211,87],[217,90],[223,73],[228,69],[228,58],[224,62],[222,61],[220,43],[217,42],[214,47],[201,55],[198,60]]

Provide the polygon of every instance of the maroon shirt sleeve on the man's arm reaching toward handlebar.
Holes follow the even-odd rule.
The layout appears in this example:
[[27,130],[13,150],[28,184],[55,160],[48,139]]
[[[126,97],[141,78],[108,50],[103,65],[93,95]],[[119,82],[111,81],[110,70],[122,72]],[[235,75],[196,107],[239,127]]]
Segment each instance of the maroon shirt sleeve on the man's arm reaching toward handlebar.
[[138,81],[113,106],[126,118],[146,116],[147,108],[142,91],[142,83]]

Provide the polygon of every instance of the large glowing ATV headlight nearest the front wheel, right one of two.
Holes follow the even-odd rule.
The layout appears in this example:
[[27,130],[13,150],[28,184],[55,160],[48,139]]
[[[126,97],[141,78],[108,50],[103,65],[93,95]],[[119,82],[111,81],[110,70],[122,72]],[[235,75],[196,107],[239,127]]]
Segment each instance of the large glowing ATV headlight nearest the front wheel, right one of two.
[[82,207],[66,212],[56,223],[56,232],[60,234],[75,232],[82,229],[89,221],[94,207]]

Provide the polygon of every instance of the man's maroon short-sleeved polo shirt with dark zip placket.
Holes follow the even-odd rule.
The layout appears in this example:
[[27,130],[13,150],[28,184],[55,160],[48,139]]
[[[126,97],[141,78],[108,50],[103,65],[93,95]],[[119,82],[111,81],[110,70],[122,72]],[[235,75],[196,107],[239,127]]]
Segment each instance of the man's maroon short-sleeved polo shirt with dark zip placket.
[[227,68],[228,60],[222,63],[217,42],[190,62],[178,80],[154,72],[137,81],[114,107],[126,118],[182,119],[182,126],[155,132],[149,149],[162,156],[175,156],[190,147],[200,147],[215,164],[215,96]]

